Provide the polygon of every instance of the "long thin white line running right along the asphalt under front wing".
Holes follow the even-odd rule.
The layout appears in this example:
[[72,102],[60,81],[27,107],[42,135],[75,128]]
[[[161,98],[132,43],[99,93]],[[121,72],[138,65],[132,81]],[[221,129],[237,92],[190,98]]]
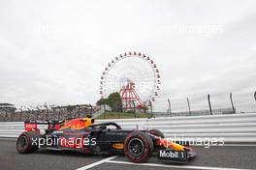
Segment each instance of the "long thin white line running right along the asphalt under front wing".
[[164,167],[164,168],[178,168],[178,169],[206,169],[206,170],[249,170],[249,169],[238,169],[238,168],[221,168],[221,167],[207,167],[207,166],[187,166],[187,165],[167,165],[167,164],[157,164],[157,163],[133,163],[128,161],[115,161],[108,160],[106,163],[117,163],[117,164],[128,164],[128,165],[138,165],[138,166],[153,166],[153,167]]

